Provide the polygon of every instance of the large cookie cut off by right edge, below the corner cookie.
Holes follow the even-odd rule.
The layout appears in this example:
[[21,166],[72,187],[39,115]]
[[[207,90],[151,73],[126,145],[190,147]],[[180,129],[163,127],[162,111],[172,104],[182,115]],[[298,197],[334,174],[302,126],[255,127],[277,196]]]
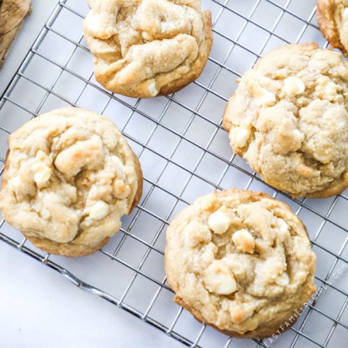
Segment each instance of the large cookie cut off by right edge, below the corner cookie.
[[348,186],[348,63],[315,43],[269,52],[248,70],[223,116],[233,151],[293,197]]

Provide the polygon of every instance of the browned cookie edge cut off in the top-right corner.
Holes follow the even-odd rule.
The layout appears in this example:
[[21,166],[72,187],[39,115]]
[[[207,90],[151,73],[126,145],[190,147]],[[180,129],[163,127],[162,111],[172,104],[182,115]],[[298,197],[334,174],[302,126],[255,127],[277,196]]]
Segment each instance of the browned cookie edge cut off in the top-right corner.
[[331,47],[348,57],[348,1],[318,0],[317,19]]

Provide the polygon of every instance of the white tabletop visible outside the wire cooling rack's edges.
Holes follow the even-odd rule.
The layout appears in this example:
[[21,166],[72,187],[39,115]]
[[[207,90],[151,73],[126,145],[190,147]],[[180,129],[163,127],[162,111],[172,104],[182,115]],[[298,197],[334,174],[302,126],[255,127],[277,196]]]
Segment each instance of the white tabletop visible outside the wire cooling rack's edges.
[[[3,68],[0,94],[56,5],[33,0]],[[0,242],[0,347],[180,347],[180,343]]]

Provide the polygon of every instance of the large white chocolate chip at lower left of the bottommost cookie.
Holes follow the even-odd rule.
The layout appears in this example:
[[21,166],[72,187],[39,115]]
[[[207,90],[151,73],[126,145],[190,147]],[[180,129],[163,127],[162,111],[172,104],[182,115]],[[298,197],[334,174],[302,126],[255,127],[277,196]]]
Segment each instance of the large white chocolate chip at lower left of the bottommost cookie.
[[233,274],[221,260],[214,260],[207,268],[204,283],[207,290],[215,294],[228,295],[237,291]]

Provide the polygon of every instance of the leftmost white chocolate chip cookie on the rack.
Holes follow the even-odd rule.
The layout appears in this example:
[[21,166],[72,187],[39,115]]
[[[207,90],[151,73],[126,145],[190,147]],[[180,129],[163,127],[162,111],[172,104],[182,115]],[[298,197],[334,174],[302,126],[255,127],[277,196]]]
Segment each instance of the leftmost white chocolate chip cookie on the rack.
[[66,108],[10,135],[1,186],[3,219],[43,251],[74,257],[118,232],[139,203],[143,175],[110,120]]

